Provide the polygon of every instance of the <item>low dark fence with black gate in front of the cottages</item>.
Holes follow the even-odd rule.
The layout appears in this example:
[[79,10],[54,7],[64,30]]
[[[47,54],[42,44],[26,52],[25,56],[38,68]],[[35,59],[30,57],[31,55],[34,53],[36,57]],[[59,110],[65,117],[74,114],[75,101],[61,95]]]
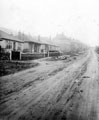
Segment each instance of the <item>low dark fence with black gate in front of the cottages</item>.
[[[50,51],[49,57],[51,56],[60,56],[60,53],[57,51]],[[48,57],[48,53],[20,53],[17,51],[5,52],[0,50],[0,60],[34,60],[39,58]]]

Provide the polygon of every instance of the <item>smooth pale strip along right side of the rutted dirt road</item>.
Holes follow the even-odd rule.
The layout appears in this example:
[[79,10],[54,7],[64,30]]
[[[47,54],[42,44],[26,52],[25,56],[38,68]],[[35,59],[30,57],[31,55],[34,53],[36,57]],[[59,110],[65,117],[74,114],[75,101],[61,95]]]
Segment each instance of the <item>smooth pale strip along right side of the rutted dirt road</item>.
[[82,101],[78,113],[83,120],[99,120],[99,65],[97,55],[93,53],[87,67],[81,88]]

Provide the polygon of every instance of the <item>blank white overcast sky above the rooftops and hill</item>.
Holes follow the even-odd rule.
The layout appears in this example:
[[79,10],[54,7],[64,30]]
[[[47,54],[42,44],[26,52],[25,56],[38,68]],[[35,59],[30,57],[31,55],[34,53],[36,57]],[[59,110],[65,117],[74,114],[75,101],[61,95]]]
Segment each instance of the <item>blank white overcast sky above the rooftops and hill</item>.
[[0,0],[0,27],[32,35],[64,32],[99,44],[99,0]]

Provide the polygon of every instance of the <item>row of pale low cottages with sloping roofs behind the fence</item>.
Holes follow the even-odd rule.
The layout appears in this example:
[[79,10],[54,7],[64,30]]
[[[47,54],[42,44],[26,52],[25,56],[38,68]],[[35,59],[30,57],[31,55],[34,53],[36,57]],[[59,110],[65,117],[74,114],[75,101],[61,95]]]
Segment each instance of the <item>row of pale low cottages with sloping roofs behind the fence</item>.
[[36,38],[30,40],[20,40],[4,31],[0,30],[0,47],[6,49],[6,51],[19,51],[20,53],[48,53],[50,50],[59,50],[59,47],[47,42],[42,42],[40,38],[37,40]]

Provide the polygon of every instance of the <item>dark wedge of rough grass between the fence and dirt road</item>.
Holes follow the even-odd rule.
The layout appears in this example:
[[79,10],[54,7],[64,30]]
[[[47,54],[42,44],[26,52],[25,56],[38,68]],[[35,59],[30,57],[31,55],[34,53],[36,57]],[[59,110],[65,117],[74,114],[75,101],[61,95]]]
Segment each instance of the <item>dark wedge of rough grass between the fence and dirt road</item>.
[[28,68],[37,66],[36,62],[24,62],[24,61],[0,61],[0,76],[14,74],[18,71],[22,71]]

